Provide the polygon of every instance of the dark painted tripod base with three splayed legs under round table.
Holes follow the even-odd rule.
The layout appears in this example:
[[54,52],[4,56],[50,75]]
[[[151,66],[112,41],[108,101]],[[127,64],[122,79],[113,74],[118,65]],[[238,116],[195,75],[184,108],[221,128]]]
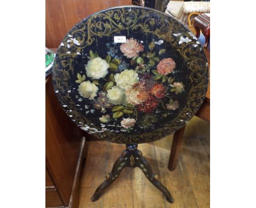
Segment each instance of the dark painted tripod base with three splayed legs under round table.
[[138,167],[142,169],[147,179],[165,195],[167,201],[173,203],[173,198],[170,192],[164,185],[162,185],[162,183],[160,183],[157,179],[158,176],[153,174],[150,164],[144,157],[142,157],[142,152],[139,151],[137,147],[138,144],[126,145],[126,150],[124,150],[118,160],[115,161],[112,172],[106,175],[106,180],[98,186],[94,195],[91,197],[92,201],[96,201],[101,197],[104,190],[118,178],[118,175],[125,167]]

